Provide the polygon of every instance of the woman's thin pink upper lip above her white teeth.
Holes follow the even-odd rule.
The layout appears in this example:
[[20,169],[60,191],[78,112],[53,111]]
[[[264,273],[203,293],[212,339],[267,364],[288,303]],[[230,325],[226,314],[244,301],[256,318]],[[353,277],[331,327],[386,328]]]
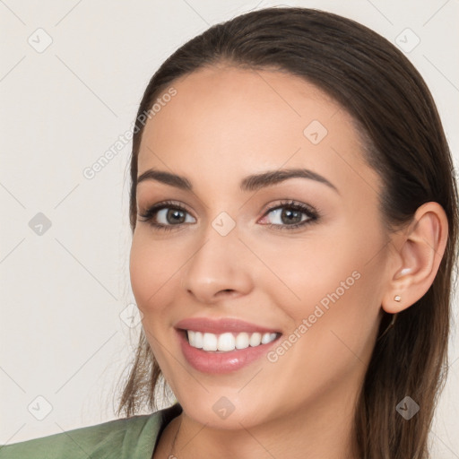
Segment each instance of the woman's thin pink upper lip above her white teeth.
[[226,332],[280,333],[278,330],[273,328],[250,324],[249,322],[235,318],[211,319],[208,317],[190,317],[180,320],[175,327],[182,330],[193,330],[194,332],[208,332],[215,334]]

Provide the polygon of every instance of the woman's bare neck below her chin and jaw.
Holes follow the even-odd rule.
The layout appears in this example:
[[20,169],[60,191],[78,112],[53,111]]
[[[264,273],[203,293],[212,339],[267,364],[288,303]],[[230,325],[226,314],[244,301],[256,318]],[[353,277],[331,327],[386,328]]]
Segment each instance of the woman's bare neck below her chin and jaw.
[[340,389],[345,395],[342,390],[326,394],[326,403],[317,397],[315,402],[280,413],[264,424],[250,426],[241,421],[240,429],[214,429],[184,411],[169,423],[163,445],[153,457],[354,459],[351,451],[357,394],[350,396],[349,387]]

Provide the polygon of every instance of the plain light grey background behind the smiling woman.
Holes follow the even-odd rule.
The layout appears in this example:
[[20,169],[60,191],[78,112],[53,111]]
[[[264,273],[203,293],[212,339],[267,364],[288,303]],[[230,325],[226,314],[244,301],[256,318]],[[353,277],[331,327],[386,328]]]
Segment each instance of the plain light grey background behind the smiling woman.
[[[82,171],[132,129],[147,82],[172,51],[216,22],[275,4],[0,0],[0,444],[115,419],[112,394],[141,326],[126,325],[131,143],[94,178]],[[437,100],[457,164],[457,0],[286,4],[340,13],[406,46],[416,38],[400,34],[411,29],[420,44],[407,56]],[[38,212],[48,230],[30,228]],[[457,333],[452,343],[432,434],[442,459],[459,457]]]

